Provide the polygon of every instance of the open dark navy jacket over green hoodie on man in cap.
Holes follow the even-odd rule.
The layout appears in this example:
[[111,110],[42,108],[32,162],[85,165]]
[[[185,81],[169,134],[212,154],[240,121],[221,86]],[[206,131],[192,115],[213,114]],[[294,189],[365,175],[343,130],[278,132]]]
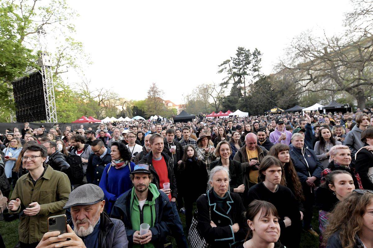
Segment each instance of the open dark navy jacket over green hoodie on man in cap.
[[[154,207],[156,208],[156,220],[154,221],[154,227],[150,228],[152,235],[151,243],[156,248],[163,248],[166,242],[166,237],[170,232],[169,226],[173,224],[173,211],[168,196],[163,191],[158,191],[160,195],[156,198],[156,204],[154,204]],[[133,244],[135,230],[132,229],[131,225],[131,194],[132,189],[119,196],[114,204],[110,216],[123,221],[128,241],[130,244]],[[148,199],[153,199],[153,194],[151,194],[150,191],[148,191]],[[131,245],[129,247],[131,247]]]

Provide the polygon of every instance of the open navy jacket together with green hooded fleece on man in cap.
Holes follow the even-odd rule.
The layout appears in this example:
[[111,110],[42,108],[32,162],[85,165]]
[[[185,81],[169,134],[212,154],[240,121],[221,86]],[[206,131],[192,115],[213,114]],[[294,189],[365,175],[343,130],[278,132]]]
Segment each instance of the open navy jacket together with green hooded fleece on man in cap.
[[[169,226],[173,224],[173,210],[168,196],[157,190],[156,185],[152,183],[149,184],[148,189],[147,201],[141,212],[135,196],[135,189],[132,188],[116,200],[111,213],[112,218],[123,221],[129,247],[137,247],[133,244],[133,235],[135,231],[140,230],[141,223],[148,223],[145,220],[150,220],[148,223],[151,231],[150,243],[156,248],[163,248],[169,234]],[[134,211],[136,207],[138,211]],[[145,247],[147,246],[145,245]]]

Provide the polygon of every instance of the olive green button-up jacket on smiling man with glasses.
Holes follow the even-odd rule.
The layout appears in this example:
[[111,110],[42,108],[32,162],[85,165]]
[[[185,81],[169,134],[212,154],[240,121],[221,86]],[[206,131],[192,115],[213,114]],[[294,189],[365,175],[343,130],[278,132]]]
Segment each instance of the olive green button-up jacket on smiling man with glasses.
[[[19,198],[21,205],[12,214],[22,213],[20,216],[18,234],[19,241],[31,244],[39,242],[48,231],[48,217],[65,214],[66,202],[70,194],[70,180],[60,171],[53,170],[48,165],[44,175],[32,184],[29,173],[17,180],[10,200]],[[40,212],[35,216],[23,214],[23,210],[32,202],[40,204]]]

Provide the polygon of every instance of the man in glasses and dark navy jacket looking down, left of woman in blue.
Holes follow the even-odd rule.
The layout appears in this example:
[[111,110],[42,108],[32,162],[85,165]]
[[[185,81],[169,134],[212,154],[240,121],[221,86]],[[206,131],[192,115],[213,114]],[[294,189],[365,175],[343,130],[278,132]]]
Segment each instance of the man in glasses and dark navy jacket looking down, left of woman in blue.
[[105,166],[112,161],[110,156],[112,151],[109,147],[104,146],[100,139],[95,139],[91,143],[91,151],[86,171],[87,182],[98,185]]

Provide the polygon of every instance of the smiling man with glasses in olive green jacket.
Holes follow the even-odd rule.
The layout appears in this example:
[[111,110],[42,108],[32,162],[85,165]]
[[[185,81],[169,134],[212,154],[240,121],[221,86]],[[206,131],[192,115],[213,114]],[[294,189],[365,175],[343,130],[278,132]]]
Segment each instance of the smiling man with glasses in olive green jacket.
[[18,227],[21,248],[34,248],[48,232],[48,217],[65,213],[70,194],[70,180],[60,171],[44,165],[47,149],[30,145],[22,155],[29,173],[17,180],[9,202],[9,212],[20,214]]

